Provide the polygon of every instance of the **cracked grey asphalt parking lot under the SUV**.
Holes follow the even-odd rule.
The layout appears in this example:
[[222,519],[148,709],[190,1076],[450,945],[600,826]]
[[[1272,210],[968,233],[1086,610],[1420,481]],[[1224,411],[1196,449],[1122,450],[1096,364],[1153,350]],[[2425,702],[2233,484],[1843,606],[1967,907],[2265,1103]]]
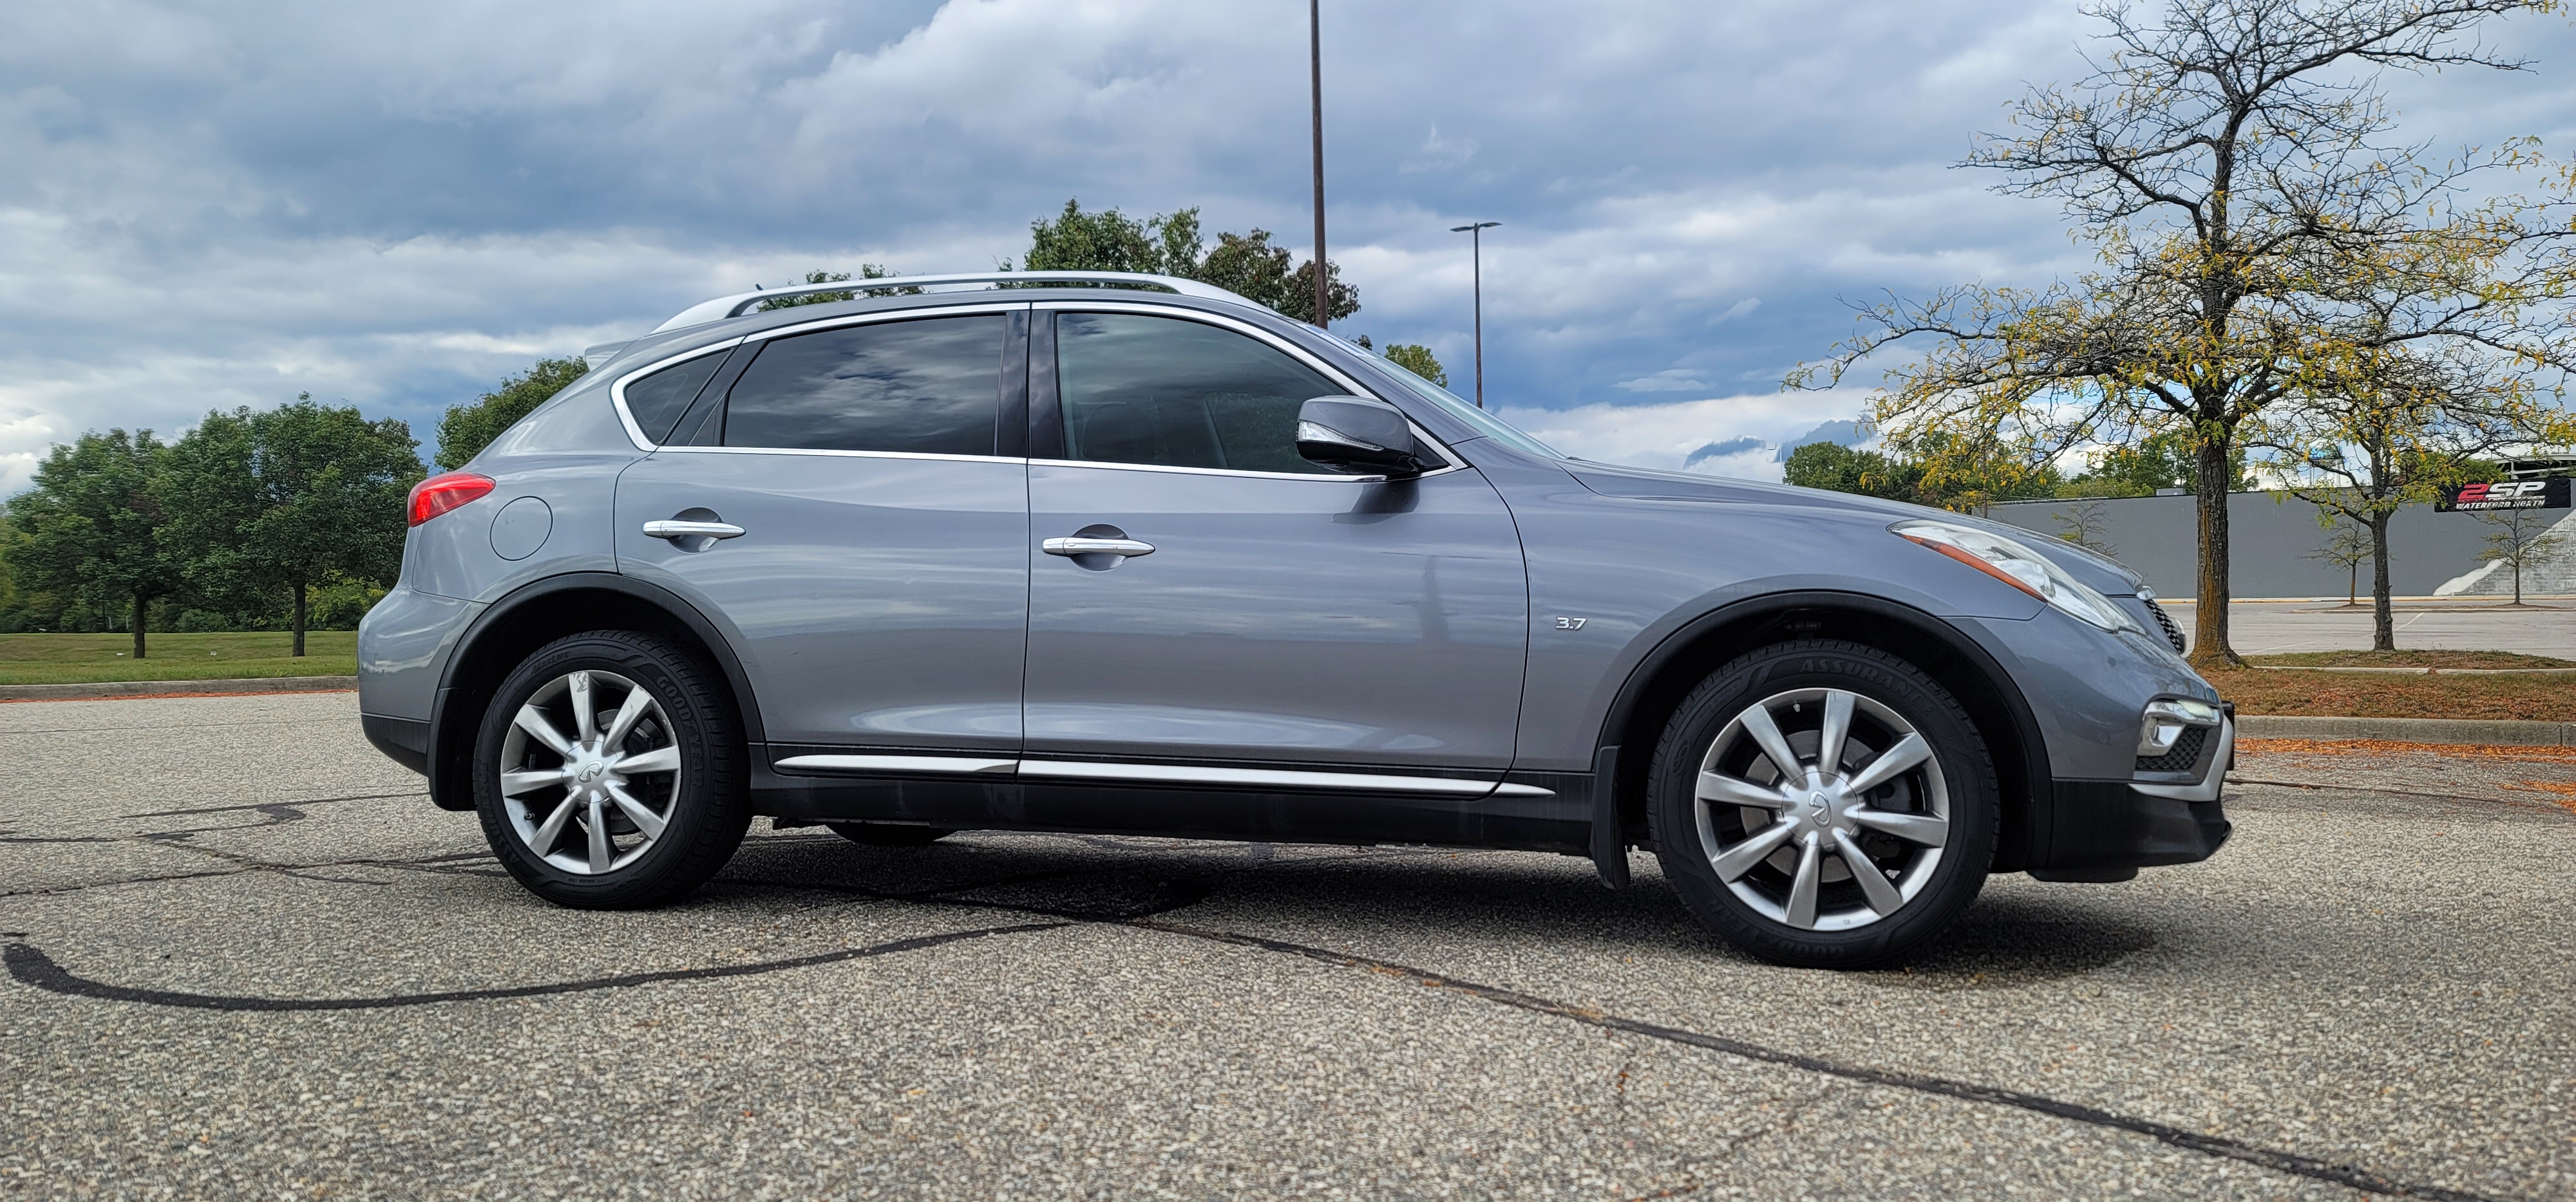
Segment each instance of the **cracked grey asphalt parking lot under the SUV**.
[[2576,1197],[2576,757],[2251,749],[1906,970],[1636,857],[768,831],[549,909],[353,695],[0,705],[0,1197]]

